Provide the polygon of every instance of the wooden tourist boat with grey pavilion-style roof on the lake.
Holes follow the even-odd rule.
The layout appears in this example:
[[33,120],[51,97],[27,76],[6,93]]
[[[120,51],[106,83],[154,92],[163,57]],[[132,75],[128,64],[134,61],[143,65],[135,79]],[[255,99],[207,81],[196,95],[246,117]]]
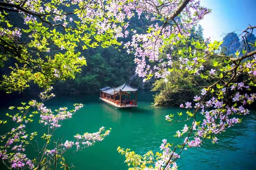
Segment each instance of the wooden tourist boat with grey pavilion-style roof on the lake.
[[[117,88],[104,87],[99,90],[99,99],[115,108],[136,108],[138,107],[137,90],[138,88],[133,88],[127,84]],[[134,96],[135,100],[130,98]]]

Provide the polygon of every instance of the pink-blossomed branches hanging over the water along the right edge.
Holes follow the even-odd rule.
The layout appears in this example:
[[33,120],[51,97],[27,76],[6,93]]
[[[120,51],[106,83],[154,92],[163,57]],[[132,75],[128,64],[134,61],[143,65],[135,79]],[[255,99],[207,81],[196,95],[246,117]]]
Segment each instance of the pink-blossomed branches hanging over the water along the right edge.
[[[182,137],[184,134],[187,134],[187,137],[184,138],[183,143],[180,145],[181,151],[183,149],[186,150],[187,147],[200,147],[203,145],[206,138],[209,138],[212,143],[218,143],[218,134],[225,132],[227,128],[241,122],[241,119],[235,117],[235,115],[247,115],[250,113],[245,107],[247,104],[254,102],[256,94],[248,94],[246,91],[250,90],[248,84],[251,83],[250,80],[255,79],[256,76],[254,75],[256,66],[255,59],[256,55],[253,56],[253,59],[244,61],[241,65],[230,65],[231,69],[236,69],[236,72],[229,74],[230,77],[228,77],[227,80],[229,80],[233,74],[239,76],[244,73],[247,74],[249,79],[242,82],[237,82],[236,79],[232,79],[229,83],[220,83],[216,84],[215,87],[203,88],[201,90],[201,96],[197,95],[194,97],[194,103],[186,102],[180,105],[181,108],[194,109],[194,112],[192,111],[193,113],[187,111],[188,117],[194,118],[192,126],[188,127],[185,124],[183,129],[176,131],[175,134],[175,137]],[[190,71],[188,68],[195,70],[197,67],[200,67],[199,63],[193,65],[198,62],[197,58],[193,58],[192,61],[187,58],[180,58],[180,61],[182,67],[186,68],[186,71]],[[188,65],[188,67],[186,65]],[[227,70],[229,70],[230,67]],[[222,74],[222,76],[219,76],[219,74],[219,70],[217,69],[211,69],[209,71],[209,75],[217,80],[221,79],[224,75]],[[213,97],[211,97],[210,100],[205,100],[209,93],[213,94]],[[226,100],[229,102],[226,102]],[[197,112],[200,112],[203,117],[198,117],[196,115]],[[173,115],[166,115],[165,118],[166,120],[171,121]],[[163,150],[164,152],[166,152],[165,144],[166,140],[163,140],[163,143],[160,146],[160,150]],[[177,156],[174,156],[173,159],[175,158],[177,158]],[[164,159],[160,159],[157,161],[158,167],[166,165],[166,162],[163,160]]]

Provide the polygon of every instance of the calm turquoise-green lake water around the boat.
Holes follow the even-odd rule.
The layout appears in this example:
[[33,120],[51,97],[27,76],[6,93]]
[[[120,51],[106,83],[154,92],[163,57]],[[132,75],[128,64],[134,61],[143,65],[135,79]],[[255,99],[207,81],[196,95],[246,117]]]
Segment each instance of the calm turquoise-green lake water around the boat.
[[[173,137],[173,135],[177,130],[182,129],[185,123],[191,126],[191,122],[179,122],[170,125],[165,120],[165,115],[186,110],[178,107],[153,107],[151,106],[151,92],[139,91],[138,94],[139,107],[132,109],[113,108],[99,101],[97,94],[57,96],[46,102],[46,106],[54,109],[63,106],[71,109],[73,103],[84,103],[84,107],[73,115],[73,118],[62,123],[62,126],[56,131],[55,138],[61,138],[64,135],[64,140],[72,140],[76,133],[96,132],[102,126],[112,128],[110,135],[104,141],[83,151],[68,155],[66,161],[82,170],[125,170],[128,167],[123,163],[125,157],[116,151],[118,146],[125,149],[130,148],[136,153],[144,155],[149,150],[160,152],[159,146],[164,138],[170,143],[183,141],[183,139]],[[11,102],[15,103],[17,100],[8,103]],[[27,102],[27,99],[21,102]],[[5,112],[6,108],[7,106],[2,107],[2,112]],[[28,127],[30,129],[36,128],[42,134],[45,131],[44,127],[38,123]],[[4,130],[1,129],[0,132]],[[42,136],[42,134],[38,136]],[[255,112],[244,116],[241,124],[228,129],[218,138],[218,144],[212,144],[208,141],[200,148],[184,150],[181,153],[181,158],[177,161],[179,169],[256,169]],[[30,149],[27,152],[31,154],[32,151],[33,149]]]

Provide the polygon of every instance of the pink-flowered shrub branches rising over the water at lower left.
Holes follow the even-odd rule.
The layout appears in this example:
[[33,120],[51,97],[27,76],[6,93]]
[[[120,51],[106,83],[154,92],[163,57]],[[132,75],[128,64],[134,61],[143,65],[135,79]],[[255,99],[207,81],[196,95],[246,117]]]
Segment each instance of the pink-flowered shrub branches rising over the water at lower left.
[[[50,94],[52,87],[46,89],[42,93],[40,93],[40,98],[43,101],[46,101],[52,97],[54,94]],[[48,149],[49,142],[51,141],[51,137],[55,132],[55,129],[61,126],[62,120],[66,120],[72,117],[72,115],[77,112],[79,109],[83,107],[82,104],[74,104],[75,108],[73,111],[67,111],[67,107],[61,107],[56,109],[53,112],[51,109],[46,108],[43,103],[39,103],[36,100],[31,100],[27,106],[26,103],[22,103],[22,107],[17,107],[18,113],[15,115],[6,114],[8,117],[12,118],[12,121],[18,123],[15,128],[12,128],[8,135],[0,136],[1,141],[4,141],[3,145],[0,145],[0,161],[5,160],[5,162],[10,164],[11,168],[29,168],[33,169],[35,167],[35,161],[27,158],[27,155],[24,154],[25,147],[31,143],[31,140],[37,135],[37,132],[33,132],[31,134],[26,134],[26,126],[22,123],[29,123],[32,121],[31,117],[36,114],[40,114],[39,123],[48,126],[48,130],[52,128],[51,131],[48,131],[47,134],[44,134],[41,138],[46,140],[46,145],[44,146],[43,154],[41,155],[44,158],[51,158],[59,160],[62,155],[71,149],[73,146],[76,146],[76,150],[82,150],[86,147],[92,146],[97,141],[102,141],[104,138],[109,135],[110,130],[105,130],[105,127],[101,127],[98,132],[95,133],[84,133],[83,135],[75,135],[74,141],[66,140],[64,143],[56,143],[56,147],[54,149]],[[36,111],[32,111],[26,118],[26,114],[30,107],[33,107]],[[14,109],[14,106],[9,107],[9,109]],[[24,114],[26,113],[26,114]],[[22,116],[21,116],[22,114]],[[49,145],[49,146],[48,146]],[[39,148],[38,148],[39,149]],[[58,157],[55,158],[56,154]],[[41,162],[41,166],[44,167],[45,163]],[[46,164],[50,164],[50,162],[46,162]],[[50,166],[50,165],[47,165]]]

